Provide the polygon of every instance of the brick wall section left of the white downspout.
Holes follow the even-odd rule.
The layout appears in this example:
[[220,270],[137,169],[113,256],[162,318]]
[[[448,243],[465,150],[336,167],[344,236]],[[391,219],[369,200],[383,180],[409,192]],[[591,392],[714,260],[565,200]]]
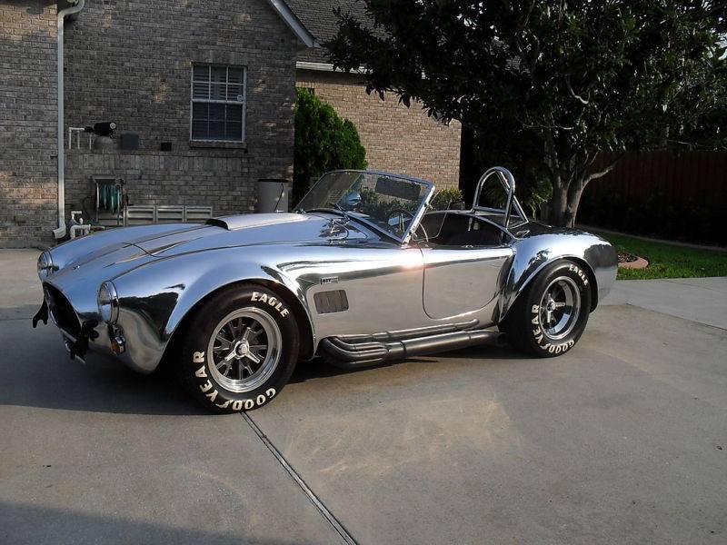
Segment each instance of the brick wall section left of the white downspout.
[[0,0],[0,246],[47,243],[55,228],[55,10]]

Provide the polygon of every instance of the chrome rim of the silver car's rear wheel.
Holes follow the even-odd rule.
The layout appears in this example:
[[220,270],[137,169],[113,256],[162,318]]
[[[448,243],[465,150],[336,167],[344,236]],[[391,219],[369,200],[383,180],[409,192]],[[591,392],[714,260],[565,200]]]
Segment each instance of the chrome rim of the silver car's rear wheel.
[[559,276],[548,284],[540,301],[540,324],[543,334],[552,341],[567,337],[578,322],[581,292],[568,276]]

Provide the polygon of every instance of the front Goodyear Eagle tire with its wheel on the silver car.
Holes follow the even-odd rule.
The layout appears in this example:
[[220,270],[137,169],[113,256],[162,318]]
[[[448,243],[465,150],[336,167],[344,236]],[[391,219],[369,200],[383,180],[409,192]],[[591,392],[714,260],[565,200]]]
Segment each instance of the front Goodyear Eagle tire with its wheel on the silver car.
[[283,390],[299,345],[284,298],[262,286],[234,286],[193,312],[177,372],[197,401],[214,412],[251,411]]

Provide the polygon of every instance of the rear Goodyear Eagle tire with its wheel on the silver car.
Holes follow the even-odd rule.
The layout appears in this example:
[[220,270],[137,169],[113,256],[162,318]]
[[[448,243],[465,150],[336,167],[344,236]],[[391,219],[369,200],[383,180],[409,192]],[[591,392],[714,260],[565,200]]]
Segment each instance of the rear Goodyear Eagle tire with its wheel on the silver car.
[[551,358],[570,351],[591,312],[590,284],[577,263],[548,265],[514,302],[501,329],[520,352]]

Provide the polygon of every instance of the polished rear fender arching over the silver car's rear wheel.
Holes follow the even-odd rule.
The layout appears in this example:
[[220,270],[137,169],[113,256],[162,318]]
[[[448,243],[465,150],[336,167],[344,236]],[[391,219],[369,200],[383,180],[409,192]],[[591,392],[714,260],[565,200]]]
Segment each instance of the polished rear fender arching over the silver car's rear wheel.
[[611,243],[591,233],[563,230],[535,234],[513,242],[514,258],[498,304],[501,322],[513,303],[533,279],[550,263],[572,259],[580,263],[593,282],[593,311],[611,290],[616,279],[618,257]]

